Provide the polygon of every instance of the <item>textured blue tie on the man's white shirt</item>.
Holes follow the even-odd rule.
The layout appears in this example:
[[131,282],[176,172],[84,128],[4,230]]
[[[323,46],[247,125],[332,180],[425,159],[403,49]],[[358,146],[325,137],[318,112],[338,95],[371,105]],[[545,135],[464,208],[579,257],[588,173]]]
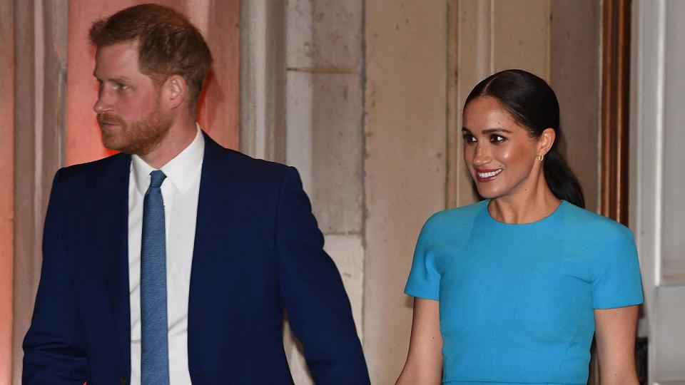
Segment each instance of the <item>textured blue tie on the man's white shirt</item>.
[[169,384],[166,317],[166,240],[160,186],[166,175],[150,173],[143,200],[141,249],[141,384]]

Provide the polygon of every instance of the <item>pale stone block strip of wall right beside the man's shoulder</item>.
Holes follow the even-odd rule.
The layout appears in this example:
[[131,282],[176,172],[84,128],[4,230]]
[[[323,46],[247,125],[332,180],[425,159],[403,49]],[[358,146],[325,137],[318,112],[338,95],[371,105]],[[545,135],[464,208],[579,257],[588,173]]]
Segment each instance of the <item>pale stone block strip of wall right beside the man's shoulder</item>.
[[[362,1],[288,1],[285,160],[300,171],[362,337]],[[310,384],[295,346],[296,384]],[[335,348],[335,347],[333,347]]]

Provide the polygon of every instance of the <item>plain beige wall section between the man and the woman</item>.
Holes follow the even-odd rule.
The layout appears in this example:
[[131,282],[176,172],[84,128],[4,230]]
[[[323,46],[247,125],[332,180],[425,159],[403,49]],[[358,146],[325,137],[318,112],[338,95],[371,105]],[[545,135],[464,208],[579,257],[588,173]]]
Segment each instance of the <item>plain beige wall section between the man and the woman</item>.
[[407,355],[402,294],[423,222],[445,209],[445,1],[367,1],[364,348],[372,384]]

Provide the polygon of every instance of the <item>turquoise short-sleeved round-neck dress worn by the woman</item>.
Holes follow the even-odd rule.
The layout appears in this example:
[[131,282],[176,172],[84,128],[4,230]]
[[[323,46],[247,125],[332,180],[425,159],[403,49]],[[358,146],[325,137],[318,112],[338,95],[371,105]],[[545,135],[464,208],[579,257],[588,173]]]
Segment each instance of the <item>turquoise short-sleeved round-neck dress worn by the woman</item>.
[[562,201],[526,225],[488,200],[438,212],[405,293],[440,302],[447,384],[586,384],[594,309],[642,303],[633,236]]

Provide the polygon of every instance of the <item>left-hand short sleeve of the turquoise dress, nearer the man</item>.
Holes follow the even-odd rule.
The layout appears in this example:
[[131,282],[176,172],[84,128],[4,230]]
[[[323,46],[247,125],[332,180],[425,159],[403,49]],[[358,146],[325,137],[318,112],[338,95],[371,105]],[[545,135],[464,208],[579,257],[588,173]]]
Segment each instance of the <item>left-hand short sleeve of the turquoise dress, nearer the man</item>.
[[432,253],[435,242],[435,233],[432,227],[431,220],[423,225],[414,250],[412,270],[407,279],[405,294],[437,300],[440,297],[440,274],[435,267],[435,258]]

